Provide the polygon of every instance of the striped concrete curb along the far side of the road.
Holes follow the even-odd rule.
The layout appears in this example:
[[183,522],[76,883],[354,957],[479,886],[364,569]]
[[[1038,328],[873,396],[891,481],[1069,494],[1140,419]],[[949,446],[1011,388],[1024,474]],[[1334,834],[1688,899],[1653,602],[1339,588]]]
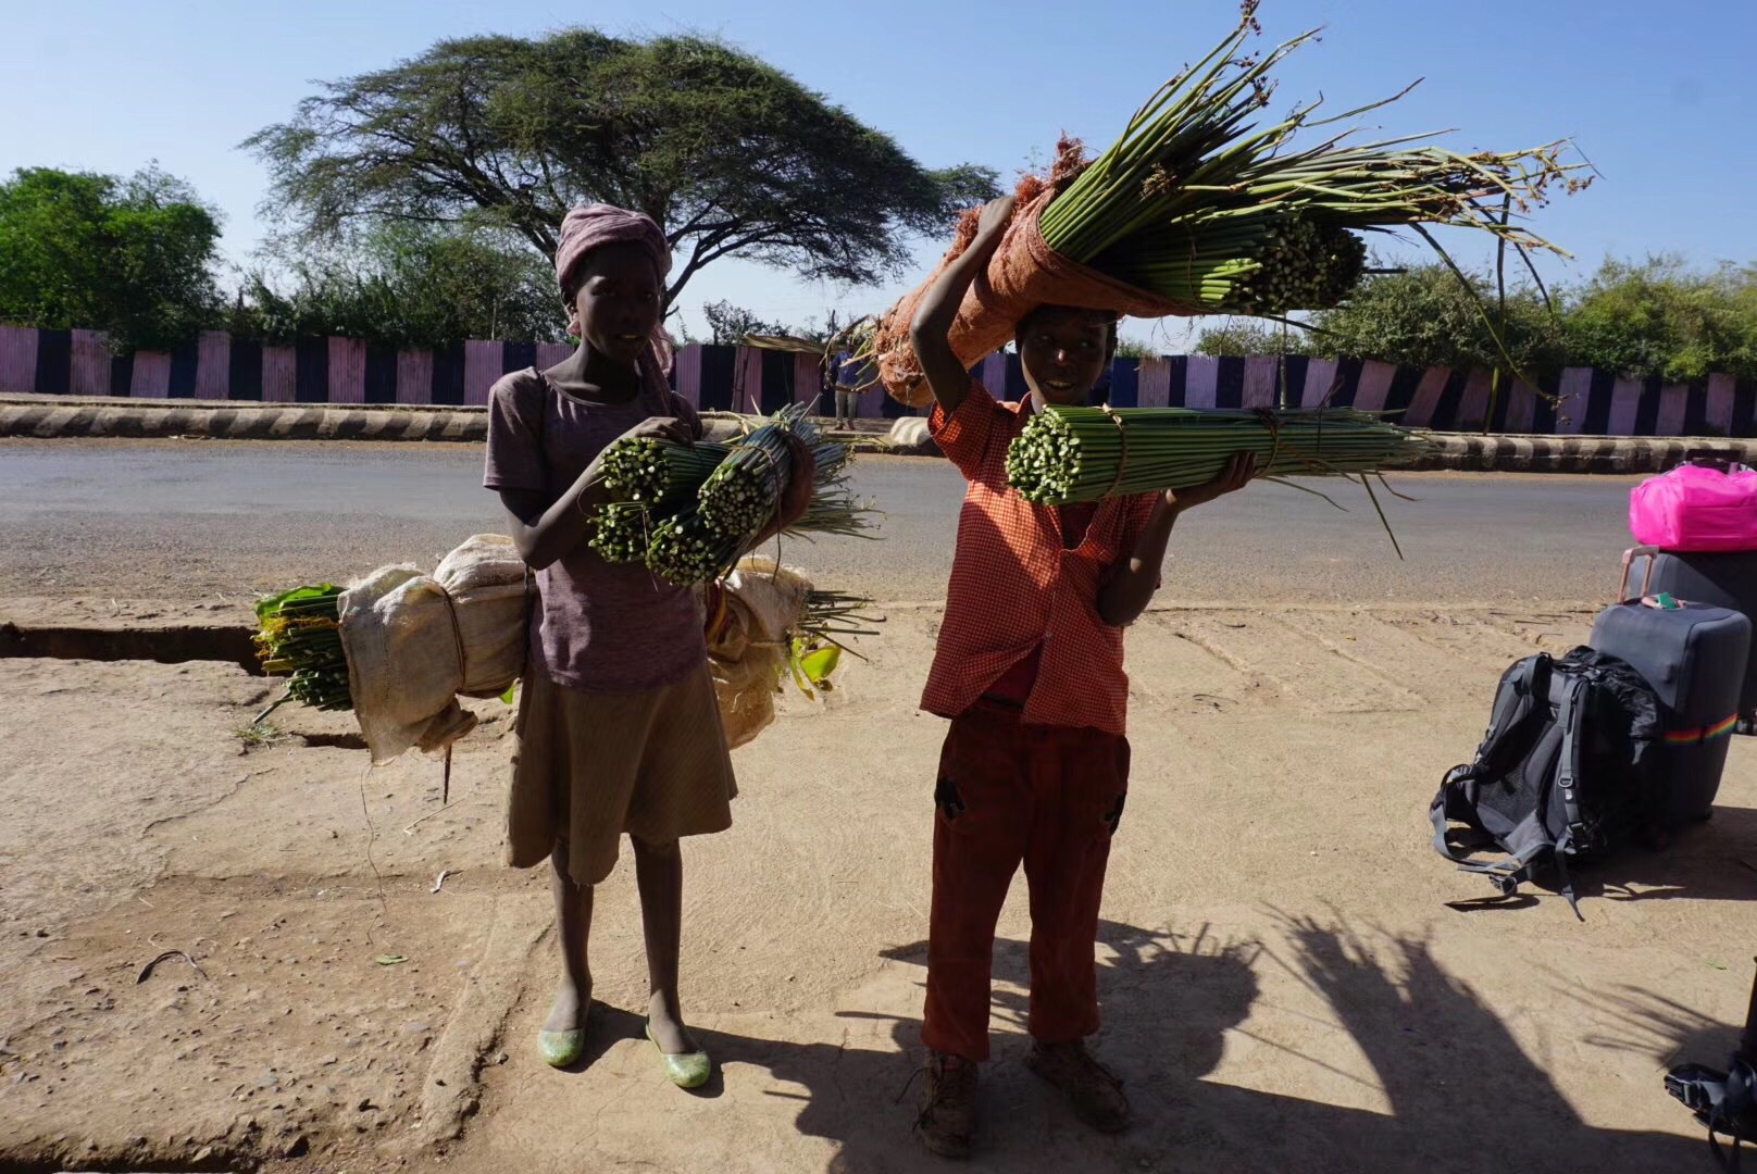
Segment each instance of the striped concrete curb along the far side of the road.
[[[710,436],[729,436],[738,417],[706,413]],[[871,422],[852,432],[859,452],[938,455],[926,418],[896,420],[884,436]],[[244,404],[125,399],[0,397],[0,436],[213,439],[362,439],[480,443],[488,432],[483,408],[411,404]],[[1692,453],[1757,462],[1757,441],[1648,436],[1465,436],[1432,432],[1434,450],[1420,469],[1472,473],[1662,473]]]

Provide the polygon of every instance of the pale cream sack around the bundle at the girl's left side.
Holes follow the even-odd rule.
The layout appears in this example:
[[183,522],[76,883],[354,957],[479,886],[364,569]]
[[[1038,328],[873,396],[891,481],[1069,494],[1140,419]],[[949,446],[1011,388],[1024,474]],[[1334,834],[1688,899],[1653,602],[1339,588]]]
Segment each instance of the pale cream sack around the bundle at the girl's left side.
[[476,534],[430,576],[387,566],[343,592],[353,714],[374,763],[457,742],[476,726],[457,698],[495,698],[518,680],[527,583],[511,538]]

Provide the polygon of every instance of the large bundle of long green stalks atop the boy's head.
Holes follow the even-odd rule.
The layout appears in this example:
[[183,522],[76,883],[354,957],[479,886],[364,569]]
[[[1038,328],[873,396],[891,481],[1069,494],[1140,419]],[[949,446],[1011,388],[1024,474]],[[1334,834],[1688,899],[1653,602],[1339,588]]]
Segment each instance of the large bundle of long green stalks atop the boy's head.
[[1312,102],[1258,125],[1274,93],[1269,74],[1320,30],[1251,56],[1256,0],[1240,7],[1237,32],[1168,81],[1044,209],[1038,227],[1052,250],[1191,315],[1335,306],[1365,267],[1358,232],[1414,228],[1450,265],[1428,225],[1478,228],[1522,255],[1562,251],[1513,213],[1543,206],[1551,185],[1578,192],[1590,183],[1576,174],[1585,163],[1562,163],[1565,141],[1458,155],[1423,146],[1432,135],[1355,144],[1355,132],[1325,132],[1297,146],[1300,132],[1402,95],[1334,118],[1318,118]]

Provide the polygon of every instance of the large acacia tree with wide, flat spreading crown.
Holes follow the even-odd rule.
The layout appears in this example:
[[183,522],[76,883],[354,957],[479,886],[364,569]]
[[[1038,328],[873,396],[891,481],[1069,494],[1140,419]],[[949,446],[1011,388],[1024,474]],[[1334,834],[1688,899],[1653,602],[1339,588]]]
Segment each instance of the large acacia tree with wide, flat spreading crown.
[[269,211],[306,237],[487,221],[548,255],[569,206],[640,209],[678,251],[668,304],[731,255],[878,281],[907,260],[910,234],[996,192],[991,169],[928,170],[748,53],[590,28],[441,40],[327,83],[244,146],[269,167]]

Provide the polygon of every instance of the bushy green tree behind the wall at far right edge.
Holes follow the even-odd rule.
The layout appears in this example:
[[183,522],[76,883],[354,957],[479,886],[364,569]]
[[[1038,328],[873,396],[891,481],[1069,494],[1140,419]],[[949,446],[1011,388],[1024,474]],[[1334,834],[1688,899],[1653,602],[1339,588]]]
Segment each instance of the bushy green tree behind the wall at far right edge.
[[1673,381],[1757,378],[1757,267],[1692,272],[1678,257],[1606,260],[1569,299],[1571,362]]

